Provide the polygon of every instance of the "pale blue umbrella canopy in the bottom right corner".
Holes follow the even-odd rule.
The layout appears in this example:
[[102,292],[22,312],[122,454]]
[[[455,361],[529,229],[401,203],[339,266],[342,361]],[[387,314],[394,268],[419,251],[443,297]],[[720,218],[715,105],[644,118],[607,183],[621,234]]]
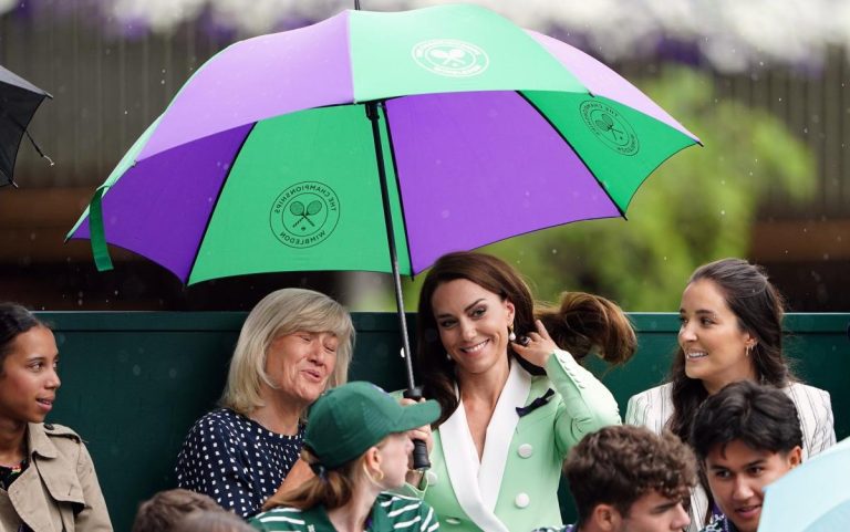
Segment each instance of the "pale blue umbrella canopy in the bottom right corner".
[[758,530],[846,532],[850,530],[850,438],[788,472],[765,492]]

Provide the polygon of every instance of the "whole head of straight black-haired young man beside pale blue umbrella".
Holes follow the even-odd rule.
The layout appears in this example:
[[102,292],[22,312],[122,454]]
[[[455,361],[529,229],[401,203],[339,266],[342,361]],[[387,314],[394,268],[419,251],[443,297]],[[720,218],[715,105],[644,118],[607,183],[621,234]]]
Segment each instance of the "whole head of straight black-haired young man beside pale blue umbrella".
[[781,389],[749,380],[708,397],[691,441],[721,511],[740,532],[755,532],[764,487],[802,461],[802,430]]

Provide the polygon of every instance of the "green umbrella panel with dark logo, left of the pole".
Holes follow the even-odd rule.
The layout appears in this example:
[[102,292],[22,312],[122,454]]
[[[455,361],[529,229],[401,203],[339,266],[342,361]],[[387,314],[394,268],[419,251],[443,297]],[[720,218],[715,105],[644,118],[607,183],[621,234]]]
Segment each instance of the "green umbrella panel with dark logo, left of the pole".
[[[400,270],[407,273],[386,140],[384,154]],[[323,107],[258,123],[218,198],[189,283],[273,271],[391,271],[375,164],[363,106]]]

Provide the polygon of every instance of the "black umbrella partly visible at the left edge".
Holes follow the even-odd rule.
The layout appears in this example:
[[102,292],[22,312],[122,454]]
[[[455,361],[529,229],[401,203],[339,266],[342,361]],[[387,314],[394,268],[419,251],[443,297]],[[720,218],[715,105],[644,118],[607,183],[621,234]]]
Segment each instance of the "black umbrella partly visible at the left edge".
[[51,166],[53,165],[50,157],[41,152],[27,131],[32,115],[45,97],[53,96],[0,66],[0,187],[18,186],[12,178],[12,171],[14,160],[18,158],[18,147],[24,134],[39,155],[48,159]]

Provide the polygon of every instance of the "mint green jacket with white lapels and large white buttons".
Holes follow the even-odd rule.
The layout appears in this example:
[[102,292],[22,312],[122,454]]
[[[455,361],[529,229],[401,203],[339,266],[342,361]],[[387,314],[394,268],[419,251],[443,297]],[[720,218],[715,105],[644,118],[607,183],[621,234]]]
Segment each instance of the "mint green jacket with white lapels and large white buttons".
[[[463,404],[434,431],[432,468],[418,492],[439,515],[444,531],[527,532],[561,523],[558,483],[567,452],[581,438],[619,425],[616,401],[572,355],[556,351],[546,375],[519,364],[487,427],[479,463]],[[522,415],[535,399],[539,406]]]

